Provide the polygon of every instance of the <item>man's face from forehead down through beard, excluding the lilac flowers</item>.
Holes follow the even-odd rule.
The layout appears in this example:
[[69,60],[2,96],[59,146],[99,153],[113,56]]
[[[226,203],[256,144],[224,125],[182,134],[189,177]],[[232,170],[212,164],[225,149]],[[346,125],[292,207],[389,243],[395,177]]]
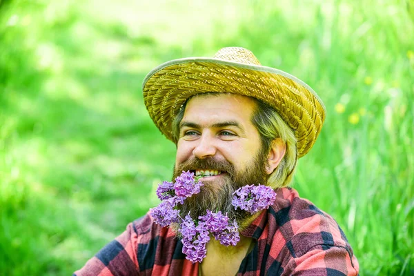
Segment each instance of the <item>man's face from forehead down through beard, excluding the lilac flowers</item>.
[[[174,178],[182,170],[204,175],[201,193],[186,200],[182,210],[193,217],[206,209],[234,213],[231,194],[240,186],[266,184],[267,152],[250,121],[255,101],[240,95],[201,95],[188,101],[180,123]],[[239,221],[241,222],[241,221]]]

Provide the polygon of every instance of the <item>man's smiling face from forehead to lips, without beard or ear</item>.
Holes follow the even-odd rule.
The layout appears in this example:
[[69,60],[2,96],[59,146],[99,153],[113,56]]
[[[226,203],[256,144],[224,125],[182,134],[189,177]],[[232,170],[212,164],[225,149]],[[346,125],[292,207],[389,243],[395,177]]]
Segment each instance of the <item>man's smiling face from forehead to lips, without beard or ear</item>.
[[[190,99],[180,123],[176,168],[192,159],[214,159],[243,170],[261,148],[250,121],[255,101],[240,95],[199,95]],[[202,181],[217,181],[226,168],[190,168]],[[221,172],[221,173],[219,173]]]

